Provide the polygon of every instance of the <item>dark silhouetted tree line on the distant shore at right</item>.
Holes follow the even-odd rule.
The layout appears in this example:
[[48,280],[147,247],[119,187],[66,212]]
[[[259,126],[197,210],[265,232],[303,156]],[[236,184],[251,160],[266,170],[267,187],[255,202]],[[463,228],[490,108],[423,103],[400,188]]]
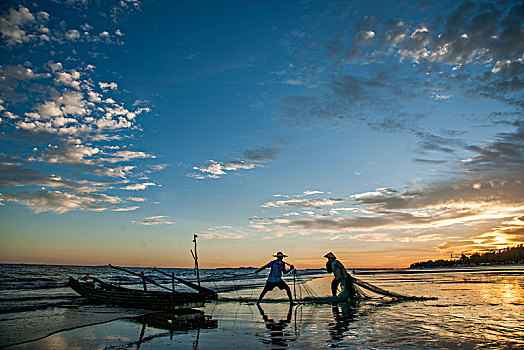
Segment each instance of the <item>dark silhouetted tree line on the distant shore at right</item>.
[[410,269],[428,268],[428,267],[453,267],[469,266],[480,264],[516,264],[524,262],[524,246],[508,247],[488,253],[474,253],[467,257],[462,254],[460,259],[456,260],[429,260],[411,264]]

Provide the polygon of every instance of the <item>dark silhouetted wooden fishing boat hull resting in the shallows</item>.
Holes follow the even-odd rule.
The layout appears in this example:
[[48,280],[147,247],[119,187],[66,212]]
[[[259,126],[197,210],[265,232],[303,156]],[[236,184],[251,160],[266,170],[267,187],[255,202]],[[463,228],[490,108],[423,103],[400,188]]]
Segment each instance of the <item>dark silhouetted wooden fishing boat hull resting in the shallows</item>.
[[67,283],[81,296],[98,303],[146,309],[178,310],[201,307],[206,301],[216,299],[216,293],[144,291],[116,286],[97,278],[81,281],[69,277]]

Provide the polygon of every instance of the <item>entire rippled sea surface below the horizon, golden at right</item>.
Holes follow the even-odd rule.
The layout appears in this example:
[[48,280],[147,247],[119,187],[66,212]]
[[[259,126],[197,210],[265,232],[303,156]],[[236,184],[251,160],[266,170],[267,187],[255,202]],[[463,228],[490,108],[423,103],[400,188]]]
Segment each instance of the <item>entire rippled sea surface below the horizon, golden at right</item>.
[[[135,272],[151,269],[130,268]],[[164,269],[194,281],[191,269]],[[299,270],[258,307],[267,275],[254,269],[200,270],[220,301],[185,315],[92,304],[65,286],[85,274],[142,288],[108,266],[0,265],[0,347],[12,349],[522,349],[524,266],[450,270],[357,270],[397,293],[437,300],[395,302],[369,293],[358,304],[321,302],[332,277]],[[155,280],[171,286],[169,278]],[[149,287],[155,289],[155,287]],[[183,286],[176,285],[182,290]]]

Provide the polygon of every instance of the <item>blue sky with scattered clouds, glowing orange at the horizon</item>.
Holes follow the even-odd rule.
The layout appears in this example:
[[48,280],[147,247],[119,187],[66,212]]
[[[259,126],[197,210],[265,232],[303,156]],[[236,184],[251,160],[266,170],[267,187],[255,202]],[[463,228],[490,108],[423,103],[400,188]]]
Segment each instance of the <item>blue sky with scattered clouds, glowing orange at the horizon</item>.
[[0,262],[406,267],[524,241],[520,1],[3,1]]

